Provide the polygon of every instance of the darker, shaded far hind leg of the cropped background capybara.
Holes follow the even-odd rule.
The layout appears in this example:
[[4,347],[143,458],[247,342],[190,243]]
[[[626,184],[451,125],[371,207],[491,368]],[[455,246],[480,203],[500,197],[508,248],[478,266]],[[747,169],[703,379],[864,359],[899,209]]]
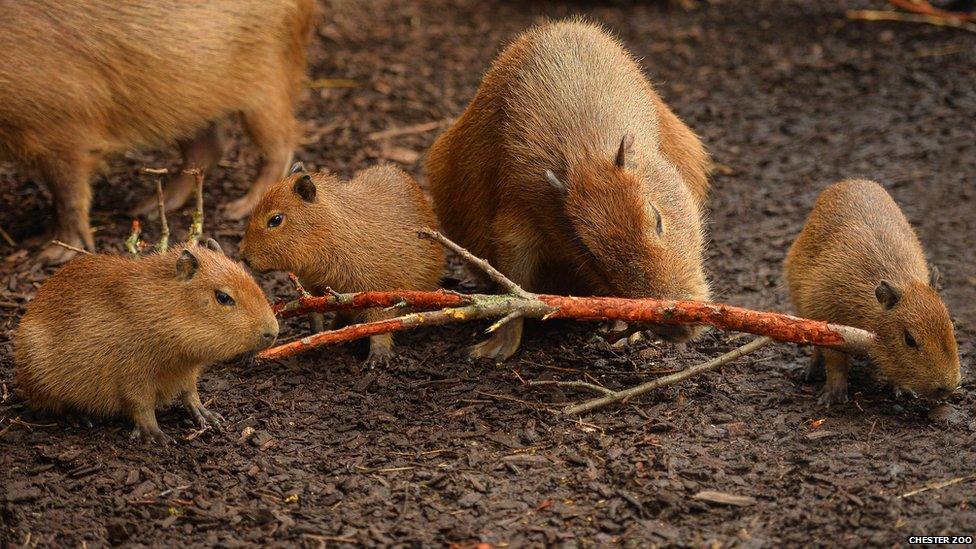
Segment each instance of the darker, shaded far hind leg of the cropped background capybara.
[[[192,139],[180,140],[178,144],[180,153],[183,155],[183,164],[180,167],[180,172],[171,178],[169,184],[163,188],[163,204],[166,211],[183,207],[187,198],[193,193],[196,178],[193,174],[184,173],[186,170],[198,169],[206,172],[219,162],[220,157],[224,154],[220,129],[216,122],[210,123],[206,128],[197,132]],[[132,210],[132,215],[155,217],[158,210],[158,199],[153,194],[140,202]]]

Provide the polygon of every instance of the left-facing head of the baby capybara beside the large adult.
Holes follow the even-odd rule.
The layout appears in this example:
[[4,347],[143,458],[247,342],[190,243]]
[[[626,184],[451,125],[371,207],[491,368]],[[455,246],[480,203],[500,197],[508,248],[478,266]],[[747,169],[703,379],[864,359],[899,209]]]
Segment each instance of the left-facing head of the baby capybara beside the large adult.
[[318,185],[339,185],[327,172],[309,174],[301,163],[255,206],[241,242],[241,257],[257,271],[302,272],[325,244],[328,211]]

